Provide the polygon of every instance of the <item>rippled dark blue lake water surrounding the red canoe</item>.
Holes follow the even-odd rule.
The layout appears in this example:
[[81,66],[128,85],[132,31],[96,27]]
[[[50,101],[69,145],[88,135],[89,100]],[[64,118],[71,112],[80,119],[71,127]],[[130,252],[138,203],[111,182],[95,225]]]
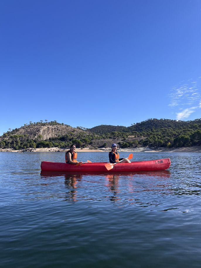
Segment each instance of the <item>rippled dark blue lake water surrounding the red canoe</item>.
[[64,162],[64,153],[0,153],[0,267],[201,267],[201,153],[133,156],[172,163],[158,172],[42,173],[40,159]]

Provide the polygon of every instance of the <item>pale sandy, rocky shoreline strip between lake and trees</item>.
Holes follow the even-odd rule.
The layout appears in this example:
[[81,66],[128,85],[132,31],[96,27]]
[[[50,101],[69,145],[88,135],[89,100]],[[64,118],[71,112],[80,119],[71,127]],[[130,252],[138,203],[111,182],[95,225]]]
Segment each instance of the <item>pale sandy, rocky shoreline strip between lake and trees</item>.
[[[69,148],[27,148],[22,150],[12,150],[1,149],[0,152],[14,152],[14,153],[24,153],[24,152],[65,152]],[[111,148],[102,148],[102,149],[90,149],[90,148],[77,148],[76,152],[78,153],[89,153],[89,152],[109,152]],[[192,147],[178,147],[178,148],[150,148],[150,147],[136,147],[136,148],[124,148],[118,149],[118,152],[144,152],[144,153],[157,153],[157,152],[167,152],[167,153],[201,153],[201,146],[192,146]]]

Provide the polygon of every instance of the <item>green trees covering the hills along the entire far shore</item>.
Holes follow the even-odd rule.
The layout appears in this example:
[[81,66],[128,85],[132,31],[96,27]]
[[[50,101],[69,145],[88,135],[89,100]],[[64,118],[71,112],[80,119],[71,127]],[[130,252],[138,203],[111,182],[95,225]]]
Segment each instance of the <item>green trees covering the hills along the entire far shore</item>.
[[[40,120],[42,121],[42,120]],[[56,120],[51,122],[37,122],[38,125],[59,125]],[[25,124],[25,126],[28,124]],[[61,125],[61,124],[60,124]],[[63,125],[63,123],[62,123]],[[69,126],[69,125],[68,125]],[[41,147],[68,147],[75,144],[84,148],[92,145],[97,139],[120,140],[121,148],[137,147],[139,145],[150,147],[182,147],[201,145],[201,119],[193,121],[176,121],[169,119],[148,119],[130,127],[100,125],[91,129],[77,127],[82,132],[57,136],[43,140],[41,135],[37,139],[28,139],[28,134],[16,135],[10,129],[0,137],[0,148],[13,148],[15,150]],[[101,147],[107,144],[103,142]]]

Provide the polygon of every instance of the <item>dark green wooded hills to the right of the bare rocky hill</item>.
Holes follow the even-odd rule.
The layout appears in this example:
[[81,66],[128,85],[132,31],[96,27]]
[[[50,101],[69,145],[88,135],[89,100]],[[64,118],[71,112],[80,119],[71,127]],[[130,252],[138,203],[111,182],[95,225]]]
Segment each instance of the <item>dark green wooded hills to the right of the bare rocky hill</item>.
[[[113,129],[113,132],[111,132]],[[114,131],[118,129],[118,131]],[[170,119],[147,119],[132,124],[130,127],[100,125],[88,129],[100,134],[102,139],[109,138],[111,134],[124,138],[122,147],[143,144],[150,147],[182,147],[201,145],[201,118],[192,121],[176,121]],[[138,141],[126,141],[129,136],[139,137]]]

